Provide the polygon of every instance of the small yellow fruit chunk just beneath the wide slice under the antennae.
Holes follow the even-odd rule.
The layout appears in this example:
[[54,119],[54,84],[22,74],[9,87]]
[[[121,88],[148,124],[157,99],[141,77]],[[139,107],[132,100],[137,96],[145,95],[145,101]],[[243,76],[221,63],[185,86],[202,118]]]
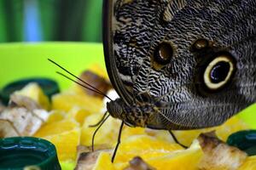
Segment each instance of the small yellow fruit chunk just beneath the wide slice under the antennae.
[[80,126],[82,126],[84,124],[85,117],[89,116],[90,114],[91,112],[84,110],[84,108],[73,107],[73,109],[68,111],[67,118],[73,118],[76,122],[79,122]]

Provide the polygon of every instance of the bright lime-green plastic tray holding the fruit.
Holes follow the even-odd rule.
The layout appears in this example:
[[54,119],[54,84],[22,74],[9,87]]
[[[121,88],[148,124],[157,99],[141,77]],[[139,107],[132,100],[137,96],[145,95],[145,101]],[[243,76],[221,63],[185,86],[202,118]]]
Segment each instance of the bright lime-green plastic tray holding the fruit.
[[[0,44],[0,88],[25,77],[49,77],[59,82],[61,89],[72,82],[55,73],[61,71],[49,59],[79,75],[92,64],[105,68],[101,43],[86,42],[43,42]],[[63,72],[63,71],[62,71]],[[256,128],[256,105],[240,114],[252,128]]]

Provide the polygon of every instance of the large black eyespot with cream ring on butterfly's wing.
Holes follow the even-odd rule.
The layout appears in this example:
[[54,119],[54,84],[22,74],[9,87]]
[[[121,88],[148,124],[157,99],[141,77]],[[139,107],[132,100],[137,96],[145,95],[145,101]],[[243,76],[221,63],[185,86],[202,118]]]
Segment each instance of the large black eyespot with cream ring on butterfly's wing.
[[235,62],[230,56],[220,55],[207,65],[203,75],[203,81],[210,90],[223,88],[235,72]]

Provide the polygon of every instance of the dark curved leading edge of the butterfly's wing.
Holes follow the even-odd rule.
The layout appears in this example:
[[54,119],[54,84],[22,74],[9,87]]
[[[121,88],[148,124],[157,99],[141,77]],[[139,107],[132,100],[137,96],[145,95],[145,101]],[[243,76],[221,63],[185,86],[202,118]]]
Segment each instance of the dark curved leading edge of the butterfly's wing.
[[103,1],[103,20],[102,20],[102,35],[105,64],[108,71],[108,77],[113,85],[113,88],[119,94],[121,99],[124,99],[126,104],[131,103],[131,94],[125,89],[122,81],[119,79],[117,72],[116,59],[113,54],[113,24],[114,24],[114,6],[115,3],[120,3],[119,0],[104,0]]

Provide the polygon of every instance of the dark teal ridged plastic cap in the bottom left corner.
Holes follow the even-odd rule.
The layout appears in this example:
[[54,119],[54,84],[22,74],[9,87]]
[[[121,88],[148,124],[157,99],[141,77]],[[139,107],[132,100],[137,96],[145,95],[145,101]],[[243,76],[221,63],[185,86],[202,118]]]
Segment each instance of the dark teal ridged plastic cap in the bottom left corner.
[[44,139],[14,137],[0,139],[0,170],[61,169],[55,145]]

